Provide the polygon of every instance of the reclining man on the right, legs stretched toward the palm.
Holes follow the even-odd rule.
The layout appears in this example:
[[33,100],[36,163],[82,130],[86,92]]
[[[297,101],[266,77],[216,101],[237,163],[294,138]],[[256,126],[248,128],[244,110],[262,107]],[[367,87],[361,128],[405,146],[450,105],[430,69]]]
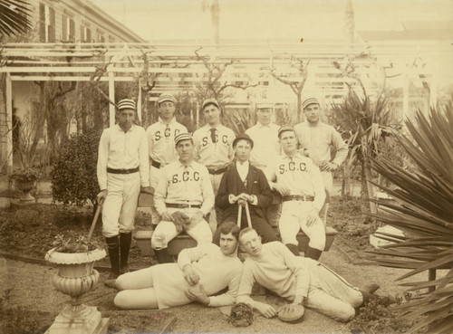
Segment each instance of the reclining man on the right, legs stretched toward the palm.
[[293,304],[304,305],[340,321],[352,320],[354,308],[378,298],[372,294],[378,285],[359,290],[322,263],[295,256],[283,243],[262,244],[253,228],[240,232],[239,243],[248,256],[236,301],[245,302],[265,318],[276,316],[277,311],[269,304],[250,298],[254,282]]

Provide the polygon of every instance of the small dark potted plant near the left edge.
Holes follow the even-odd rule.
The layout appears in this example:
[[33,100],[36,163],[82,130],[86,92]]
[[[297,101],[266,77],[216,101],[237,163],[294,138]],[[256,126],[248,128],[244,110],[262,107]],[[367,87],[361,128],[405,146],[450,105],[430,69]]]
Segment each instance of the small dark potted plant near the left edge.
[[36,188],[37,182],[41,177],[41,171],[35,167],[16,169],[9,176],[10,186],[14,184],[14,187],[21,192],[21,196],[19,197],[20,204],[27,205],[34,203],[35,198],[30,193]]

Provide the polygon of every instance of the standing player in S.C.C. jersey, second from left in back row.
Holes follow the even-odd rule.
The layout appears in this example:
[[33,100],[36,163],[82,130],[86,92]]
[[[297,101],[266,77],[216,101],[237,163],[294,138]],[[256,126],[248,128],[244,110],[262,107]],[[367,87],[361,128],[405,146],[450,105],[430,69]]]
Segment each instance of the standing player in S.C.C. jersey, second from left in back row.
[[[175,138],[188,129],[175,118],[176,99],[169,93],[162,93],[157,101],[159,119],[146,130],[149,146],[149,177],[153,189],[161,176],[160,168],[178,160]],[[160,217],[156,207],[151,205],[152,224],[158,224]]]

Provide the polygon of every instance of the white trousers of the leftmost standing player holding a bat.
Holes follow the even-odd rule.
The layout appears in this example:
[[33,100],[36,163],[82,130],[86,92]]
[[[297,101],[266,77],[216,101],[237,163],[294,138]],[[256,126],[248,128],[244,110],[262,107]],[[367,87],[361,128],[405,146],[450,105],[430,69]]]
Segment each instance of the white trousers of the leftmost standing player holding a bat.
[[107,174],[107,196],[102,205],[102,234],[106,238],[130,233],[140,194],[140,173]]

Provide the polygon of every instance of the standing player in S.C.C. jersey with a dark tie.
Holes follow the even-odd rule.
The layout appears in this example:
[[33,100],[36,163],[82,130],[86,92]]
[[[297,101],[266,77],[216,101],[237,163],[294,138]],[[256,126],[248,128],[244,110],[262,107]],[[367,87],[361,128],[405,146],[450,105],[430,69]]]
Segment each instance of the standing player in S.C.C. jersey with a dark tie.
[[[201,106],[206,125],[194,132],[195,160],[207,167],[214,195],[229,163],[233,159],[233,140],[236,135],[220,123],[220,105],[215,99],[203,101]],[[217,225],[222,220],[221,210],[213,210],[211,224]]]

